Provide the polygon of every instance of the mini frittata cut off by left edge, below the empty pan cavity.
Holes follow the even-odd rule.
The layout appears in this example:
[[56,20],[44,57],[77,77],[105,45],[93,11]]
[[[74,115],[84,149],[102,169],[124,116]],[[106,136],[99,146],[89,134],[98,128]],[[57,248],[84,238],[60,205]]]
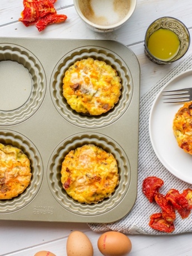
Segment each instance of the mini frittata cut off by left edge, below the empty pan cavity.
[[31,163],[22,150],[0,143],[0,200],[23,193],[31,176]]

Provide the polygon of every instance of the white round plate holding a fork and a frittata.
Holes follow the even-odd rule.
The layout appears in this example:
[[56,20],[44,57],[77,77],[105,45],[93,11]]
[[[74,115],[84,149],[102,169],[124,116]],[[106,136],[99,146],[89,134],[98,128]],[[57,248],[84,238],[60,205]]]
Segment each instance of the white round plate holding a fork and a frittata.
[[158,93],[149,117],[149,134],[156,156],[177,178],[192,184],[192,155],[178,146],[173,133],[173,119],[183,103],[164,103],[163,90],[192,87],[192,70],[172,78]]

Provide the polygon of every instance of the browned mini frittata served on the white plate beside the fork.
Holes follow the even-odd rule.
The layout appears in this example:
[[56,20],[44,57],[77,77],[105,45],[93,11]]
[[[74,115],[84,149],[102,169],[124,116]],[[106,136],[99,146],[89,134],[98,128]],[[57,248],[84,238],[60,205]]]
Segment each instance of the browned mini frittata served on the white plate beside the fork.
[[192,101],[186,102],[176,113],[173,130],[179,147],[192,155]]

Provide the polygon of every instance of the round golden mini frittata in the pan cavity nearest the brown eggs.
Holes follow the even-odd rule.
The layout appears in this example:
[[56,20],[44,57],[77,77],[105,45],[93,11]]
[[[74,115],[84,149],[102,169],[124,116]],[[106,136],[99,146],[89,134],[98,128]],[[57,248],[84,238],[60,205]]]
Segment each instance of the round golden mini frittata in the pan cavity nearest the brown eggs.
[[93,144],[71,150],[62,163],[63,189],[80,203],[96,204],[109,198],[119,184],[115,157]]

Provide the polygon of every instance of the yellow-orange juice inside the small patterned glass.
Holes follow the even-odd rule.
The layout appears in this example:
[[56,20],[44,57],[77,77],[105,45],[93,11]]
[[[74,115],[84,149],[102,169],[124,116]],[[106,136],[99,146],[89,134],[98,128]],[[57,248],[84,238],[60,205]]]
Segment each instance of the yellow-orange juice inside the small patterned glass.
[[180,41],[171,30],[160,28],[149,37],[147,47],[151,54],[162,61],[170,61],[179,51]]

